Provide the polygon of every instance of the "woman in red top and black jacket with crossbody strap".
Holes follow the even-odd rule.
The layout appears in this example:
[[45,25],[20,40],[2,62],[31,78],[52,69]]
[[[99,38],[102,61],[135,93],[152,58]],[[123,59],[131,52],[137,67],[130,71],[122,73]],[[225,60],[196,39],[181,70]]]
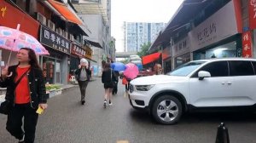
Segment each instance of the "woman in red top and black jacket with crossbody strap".
[[7,88],[5,100],[11,104],[6,129],[20,143],[33,143],[38,123],[36,111],[47,108],[44,76],[32,49],[21,48],[16,58],[18,65],[6,66],[0,81],[0,86]]

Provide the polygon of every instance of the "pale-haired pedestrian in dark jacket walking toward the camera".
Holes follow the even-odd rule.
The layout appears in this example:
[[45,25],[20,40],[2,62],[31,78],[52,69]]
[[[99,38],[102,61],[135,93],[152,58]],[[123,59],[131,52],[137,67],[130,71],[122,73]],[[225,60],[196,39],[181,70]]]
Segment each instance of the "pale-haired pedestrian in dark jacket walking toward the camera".
[[90,81],[90,69],[88,61],[82,58],[80,60],[79,68],[75,71],[77,81],[79,82],[79,89],[81,92],[81,104],[85,103],[85,92]]

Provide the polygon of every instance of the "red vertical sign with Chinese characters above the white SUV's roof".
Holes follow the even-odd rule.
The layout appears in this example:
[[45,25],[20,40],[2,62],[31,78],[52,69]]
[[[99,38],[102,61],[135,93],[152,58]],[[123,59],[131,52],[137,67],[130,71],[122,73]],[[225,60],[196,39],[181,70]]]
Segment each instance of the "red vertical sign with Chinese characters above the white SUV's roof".
[[252,57],[252,34],[251,31],[242,33],[242,57]]

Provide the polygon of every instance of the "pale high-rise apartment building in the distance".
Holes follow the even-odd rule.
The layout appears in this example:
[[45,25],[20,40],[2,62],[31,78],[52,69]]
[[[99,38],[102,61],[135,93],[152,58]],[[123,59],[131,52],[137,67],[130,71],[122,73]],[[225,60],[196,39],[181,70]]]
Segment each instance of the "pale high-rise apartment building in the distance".
[[124,22],[124,51],[138,52],[143,43],[153,43],[166,23]]

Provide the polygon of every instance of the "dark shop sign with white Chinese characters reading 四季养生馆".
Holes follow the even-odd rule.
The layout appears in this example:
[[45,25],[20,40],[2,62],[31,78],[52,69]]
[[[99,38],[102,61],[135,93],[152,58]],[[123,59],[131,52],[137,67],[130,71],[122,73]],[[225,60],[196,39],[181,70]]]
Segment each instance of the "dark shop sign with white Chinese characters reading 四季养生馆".
[[52,49],[70,54],[70,41],[44,26],[41,26],[40,42]]

